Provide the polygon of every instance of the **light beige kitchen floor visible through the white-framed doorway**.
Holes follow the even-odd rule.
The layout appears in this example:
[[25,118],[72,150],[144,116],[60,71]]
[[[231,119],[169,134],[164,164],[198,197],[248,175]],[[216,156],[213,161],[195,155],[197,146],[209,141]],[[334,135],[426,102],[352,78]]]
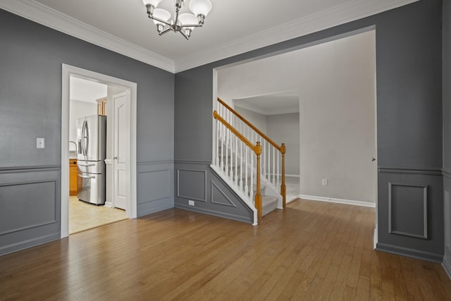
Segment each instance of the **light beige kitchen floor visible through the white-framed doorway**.
[[96,206],[69,197],[69,234],[127,219],[124,210]]

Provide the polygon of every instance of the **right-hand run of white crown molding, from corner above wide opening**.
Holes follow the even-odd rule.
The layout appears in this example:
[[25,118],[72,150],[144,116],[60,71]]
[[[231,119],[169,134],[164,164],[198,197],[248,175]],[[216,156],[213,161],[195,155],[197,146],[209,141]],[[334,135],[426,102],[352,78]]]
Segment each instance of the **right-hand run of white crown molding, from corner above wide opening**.
[[206,63],[226,59],[230,56],[284,42],[295,37],[302,37],[320,30],[326,30],[330,27],[359,20],[383,11],[389,11],[416,1],[419,0],[347,1],[345,4],[334,6],[319,13],[257,32],[254,35],[236,39],[218,47],[206,49],[192,56],[185,56],[180,60],[175,60],[175,72],[202,66]]

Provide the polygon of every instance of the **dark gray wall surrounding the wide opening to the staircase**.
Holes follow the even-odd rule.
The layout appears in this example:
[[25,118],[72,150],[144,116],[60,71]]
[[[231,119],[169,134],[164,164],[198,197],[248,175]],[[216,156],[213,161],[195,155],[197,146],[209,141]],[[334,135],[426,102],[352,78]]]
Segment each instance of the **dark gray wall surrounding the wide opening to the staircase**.
[[[373,25],[376,25],[378,96],[377,249],[440,261],[443,257],[441,1],[418,1],[177,73],[175,162],[191,161],[194,165],[211,162],[213,68],[289,51]],[[185,199],[175,197],[175,206],[183,202]],[[404,219],[407,214],[412,219]],[[424,228],[427,238],[419,237]]]

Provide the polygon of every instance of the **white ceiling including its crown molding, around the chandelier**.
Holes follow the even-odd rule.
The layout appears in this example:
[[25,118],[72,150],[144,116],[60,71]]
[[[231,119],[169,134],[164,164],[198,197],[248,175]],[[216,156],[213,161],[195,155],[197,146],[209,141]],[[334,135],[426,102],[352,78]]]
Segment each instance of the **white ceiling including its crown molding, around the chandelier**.
[[211,0],[204,27],[188,41],[159,37],[142,0],[0,0],[0,8],[175,73],[415,1]]

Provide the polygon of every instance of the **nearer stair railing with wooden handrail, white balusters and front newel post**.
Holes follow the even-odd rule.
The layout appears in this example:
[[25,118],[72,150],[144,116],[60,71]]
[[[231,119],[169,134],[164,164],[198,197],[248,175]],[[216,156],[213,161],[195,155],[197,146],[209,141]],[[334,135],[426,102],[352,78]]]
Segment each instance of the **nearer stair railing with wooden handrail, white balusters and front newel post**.
[[[253,145],[252,142],[230,125],[226,119],[222,118],[217,111],[213,112],[213,116],[216,119],[217,145],[214,165],[240,189],[249,202],[254,204],[254,207],[257,209],[257,223],[261,223],[263,207],[260,191],[260,142],[257,141]],[[219,149],[221,149],[221,152]],[[254,173],[252,172],[254,166],[256,168],[255,197],[253,191]]]

